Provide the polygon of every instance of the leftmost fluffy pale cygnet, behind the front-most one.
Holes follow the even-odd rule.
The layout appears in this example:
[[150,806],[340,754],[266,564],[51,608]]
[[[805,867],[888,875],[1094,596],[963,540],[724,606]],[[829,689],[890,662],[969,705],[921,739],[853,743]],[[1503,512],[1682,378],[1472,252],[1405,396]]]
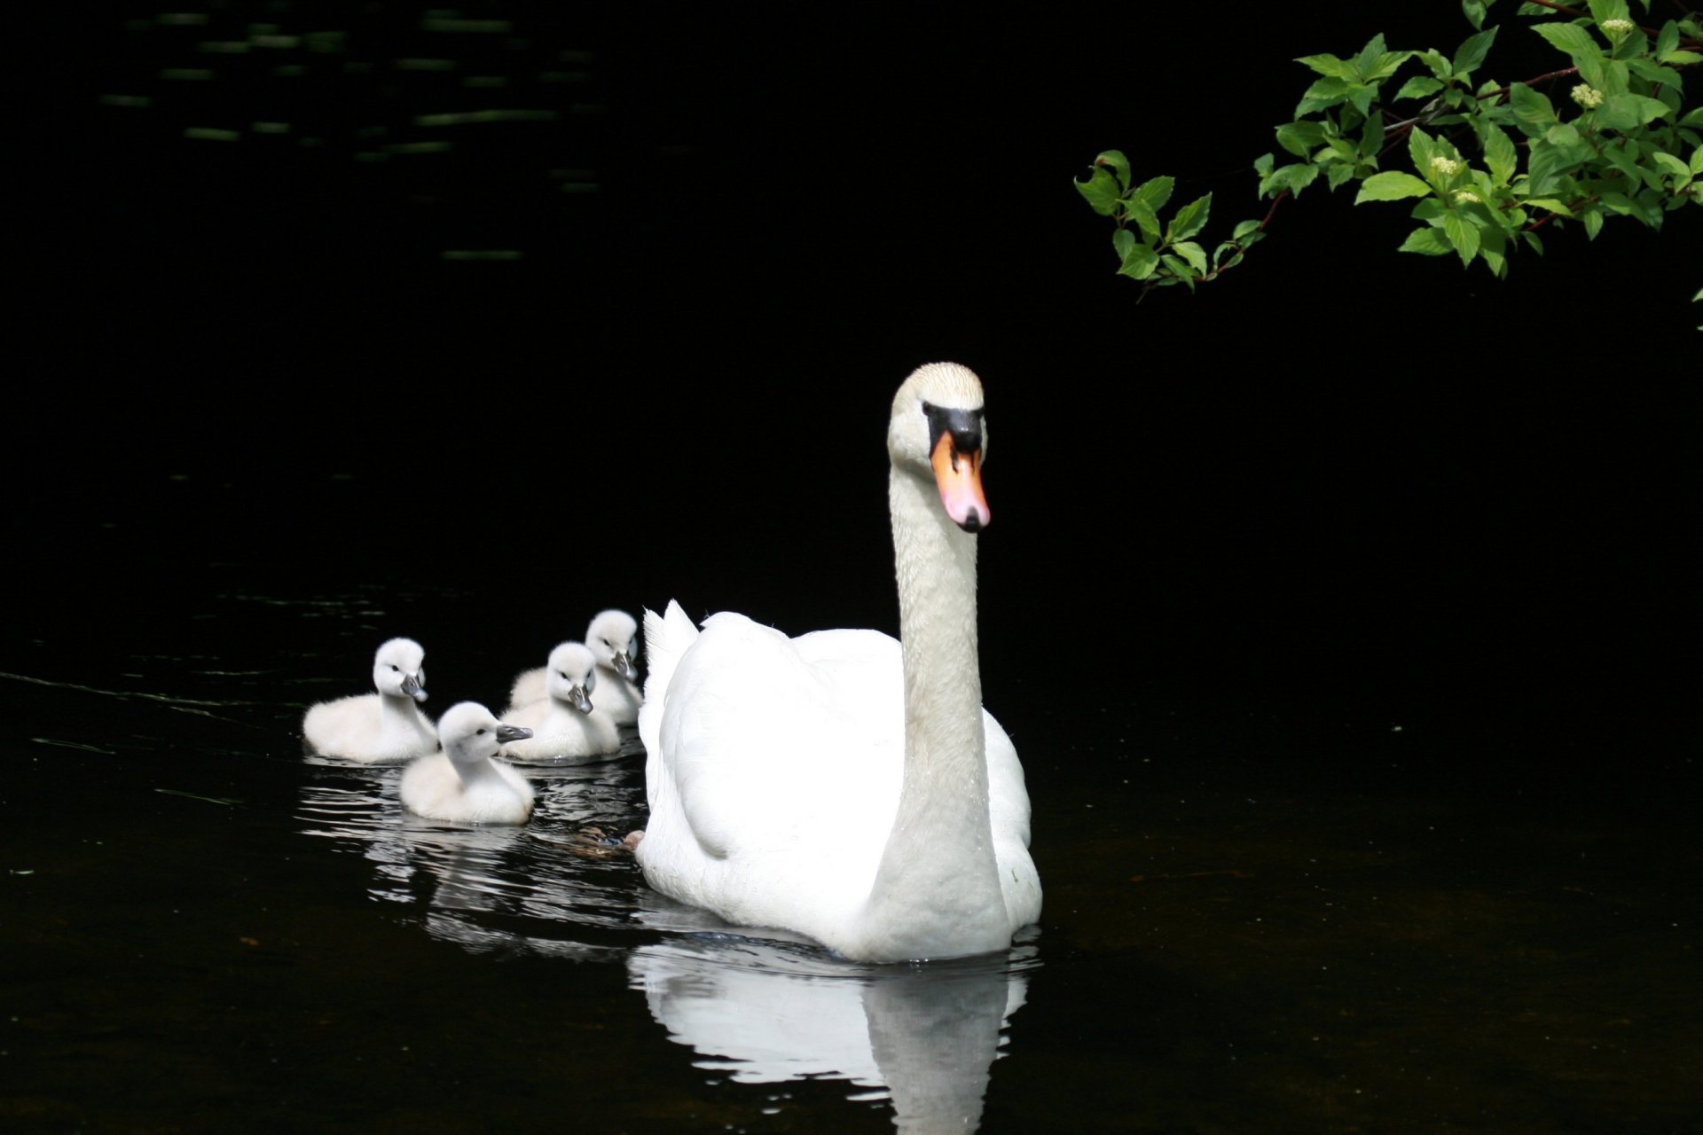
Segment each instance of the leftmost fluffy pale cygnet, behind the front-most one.
[[416,703],[426,701],[426,650],[392,638],[373,657],[376,694],[354,694],[308,706],[301,735],[325,757],[368,764],[410,761],[438,747],[438,732]]

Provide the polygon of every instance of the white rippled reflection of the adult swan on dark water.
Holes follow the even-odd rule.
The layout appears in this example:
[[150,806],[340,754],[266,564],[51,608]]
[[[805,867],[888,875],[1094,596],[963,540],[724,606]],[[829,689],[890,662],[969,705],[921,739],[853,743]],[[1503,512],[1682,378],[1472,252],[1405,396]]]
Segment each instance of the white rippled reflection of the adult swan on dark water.
[[806,1077],[884,1089],[901,1132],[974,1132],[1034,948],[928,965],[853,965],[729,934],[630,955],[628,975],[695,1065],[744,1084]]

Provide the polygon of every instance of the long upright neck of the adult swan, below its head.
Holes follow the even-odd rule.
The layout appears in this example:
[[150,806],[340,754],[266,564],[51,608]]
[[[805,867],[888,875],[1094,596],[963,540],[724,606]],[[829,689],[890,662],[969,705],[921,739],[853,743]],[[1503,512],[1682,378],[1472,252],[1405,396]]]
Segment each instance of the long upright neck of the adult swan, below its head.
[[945,516],[932,480],[894,466],[887,497],[904,650],[904,786],[867,926],[899,946],[894,956],[1003,950],[1010,926],[988,820],[976,536]]

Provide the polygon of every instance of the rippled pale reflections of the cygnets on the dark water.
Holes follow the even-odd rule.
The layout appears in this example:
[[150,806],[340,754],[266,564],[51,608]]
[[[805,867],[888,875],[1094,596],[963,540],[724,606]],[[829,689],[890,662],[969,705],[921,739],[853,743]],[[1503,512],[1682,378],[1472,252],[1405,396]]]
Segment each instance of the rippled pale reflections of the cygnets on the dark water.
[[565,934],[572,926],[630,926],[630,861],[584,854],[594,844],[582,836],[594,820],[630,825],[630,791],[618,771],[530,767],[526,774],[538,790],[526,827],[412,815],[397,798],[399,769],[347,766],[312,769],[298,817],[305,834],[359,851],[373,864],[368,897],[422,909],[434,938],[479,953],[610,953]]

